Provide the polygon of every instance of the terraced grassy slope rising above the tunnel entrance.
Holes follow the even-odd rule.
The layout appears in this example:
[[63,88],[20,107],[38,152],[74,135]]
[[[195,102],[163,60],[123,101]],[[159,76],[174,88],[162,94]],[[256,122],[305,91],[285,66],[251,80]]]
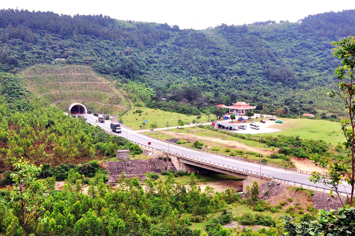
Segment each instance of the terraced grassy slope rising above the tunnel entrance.
[[[122,92],[99,77],[89,66],[35,65],[21,73],[30,96],[67,110],[72,103],[84,104],[88,111],[120,114],[129,106]],[[106,106],[109,106],[105,108]],[[79,106],[72,113],[84,112]]]

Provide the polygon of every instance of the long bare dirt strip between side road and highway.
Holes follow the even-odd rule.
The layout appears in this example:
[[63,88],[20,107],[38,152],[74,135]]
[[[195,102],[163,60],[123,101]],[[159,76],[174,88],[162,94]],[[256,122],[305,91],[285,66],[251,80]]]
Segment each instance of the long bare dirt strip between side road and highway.
[[[167,132],[167,131],[160,131],[160,132]],[[215,138],[215,137],[204,137],[204,136],[199,136],[191,133],[179,133],[179,132],[171,132],[171,131],[169,133],[173,137],[177,137],[179,139],[184,139],[188,141],[202,141],[204,142],[204,144],[209,144],[209,145],[213,145],[213,143],[219,143],[221,147],[260,152],[259,147],[248,146],[238,141],[222,140],[220,138]],[[271,155],[274,152],[275,151],[273,150],[261,149],[261,153],[265,155]]]

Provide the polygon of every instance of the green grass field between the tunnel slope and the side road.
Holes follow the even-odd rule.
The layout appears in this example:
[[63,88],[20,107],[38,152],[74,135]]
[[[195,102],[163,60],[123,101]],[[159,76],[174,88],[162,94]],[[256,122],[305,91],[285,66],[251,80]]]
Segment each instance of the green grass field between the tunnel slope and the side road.
[[[138,113],[136,112],[138,110]],[[211,116],[213,118],[213,116]],[[148,123],[143,124],[144,120],[148,120]],[[164,111],[160,109],[151,109],[147,107],[132,107],[126,114],[122,116],[122,122],[127,123],[128,126],[131,126],[134,129],[149,129],[150,124],[154,121],[156,122],[159,128],[166,127],[166,122],[169,121],[170,126],[177,126],[177,120],[181,119],[185,123],[189,124],[193,119],[197,120],[196,115],[186,115],[176,112]],[[171,120],[171,121],[170,121]],[[208,117],[202,115],[200,122],[207,122]]]

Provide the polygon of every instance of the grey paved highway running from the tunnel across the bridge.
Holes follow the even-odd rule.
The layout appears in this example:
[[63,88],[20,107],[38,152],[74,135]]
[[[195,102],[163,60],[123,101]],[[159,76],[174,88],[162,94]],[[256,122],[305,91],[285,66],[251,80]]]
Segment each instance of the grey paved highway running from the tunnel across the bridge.
[[[194,157],[195,159],[198,158],[199,160],[228,166],[230,168],[232,168],[232,167],[239,168],[239,169],[241,168],[241,169],[249,170],[249,171],[252,171],[253,173],[258,173],[258,174],[260,174],[260,168],[261,168],[261,173],[266,176],[284,179],[286,181],[289,180],[292,182],[298,182],[298,183],[302,183],[305,185],[311,185],[311,186],[317,186],[317,187],[324,188],[324,185],[322,183],[316,183],[316,184],[311,183],[308,180],[309,175],[307,175],[307,174],[302,174],[302,173],[298,173],[295,171],[290,171],[290,170],[285,170],[285,169],[271,167],[271,166],[265,166],[265,165],[261,165],[261,167],[260,167],[260,165],[256,164],[256,163],[244,162],[244,161],[238,160],[238,159],[228,158],[228,157],[224,157],[224,156],[215,155],[212,153],[206,153],[206,152],[202,152],[202,151],[198,151],[198,150],[189,149],[189,148],[186,148],[186,147],[183,147],[180,145],[175,145],[172,143],[160,141],[160,140],[154,139],[152,137],[140,134],[137,131],[129,130],[126,128],[122,128],[121,133],[115,133],[110,129],[110,121],[109,120],[106,120],[104,123],[99,123],[99,122],[96,122],[97,116],[93,116],[91,114],[84,114],[84,116],[87,118],[88,123],[96,124],[102,128],[104,127],[104,129],[106,131],[111,132],[112,134],[126,137],[127,139],[137,142],[139,144],[143,144],[143,145],[148,146],[148,142],[150,142],[149,146],[157,148],[157,149],[169,151],[172,153],[177,153],[177,154],[184,155],[184,156]],[[347,192],[350,192],[349,185],[344,184],[344,188],[347,189]],[[342,189],[342,190],[344,190],[344,189]]]

